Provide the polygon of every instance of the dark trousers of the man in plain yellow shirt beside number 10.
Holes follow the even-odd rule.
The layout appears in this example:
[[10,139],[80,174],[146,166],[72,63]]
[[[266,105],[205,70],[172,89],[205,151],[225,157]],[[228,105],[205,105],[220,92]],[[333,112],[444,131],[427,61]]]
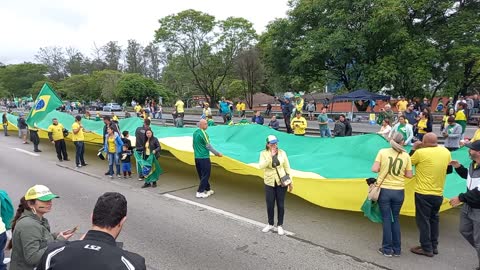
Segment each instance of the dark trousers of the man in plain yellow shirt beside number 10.
[[438,246],[440,206],[443,197],[415,193],[415,220],[420,232],[420,245],[426,252],[432,253]]

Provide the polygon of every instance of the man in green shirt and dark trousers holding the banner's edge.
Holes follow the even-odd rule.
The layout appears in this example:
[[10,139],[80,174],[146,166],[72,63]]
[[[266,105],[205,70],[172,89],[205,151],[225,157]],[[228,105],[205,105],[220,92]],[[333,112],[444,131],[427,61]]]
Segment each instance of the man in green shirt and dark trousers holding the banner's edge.
[[207,121],[205,119],[200,120],[198,123],[198,129],[193,132],[193,154],[195,156],[195,167],[197,168],[198,177],[200,178],[200,185],[198,186],[197,198],[207,198],[214,192],[210,189],[210,171],[212,170],[212,164],[210,162],[210,152],[217,157],[223,155],[215,150],[210,144],[210,139],[207,132]]

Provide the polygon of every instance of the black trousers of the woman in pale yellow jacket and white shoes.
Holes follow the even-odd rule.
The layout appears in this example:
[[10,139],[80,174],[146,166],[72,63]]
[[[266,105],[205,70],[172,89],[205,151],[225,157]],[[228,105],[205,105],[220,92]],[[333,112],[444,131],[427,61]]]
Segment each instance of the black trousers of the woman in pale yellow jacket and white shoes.
[[268,186],[265,185],[265,201],[267,202],[267,216],[268,224],[273,226],[275,202],[277,203],[277,226],[283,225],[283,217],[285,215],[285,194],[287,193],[287,187]]

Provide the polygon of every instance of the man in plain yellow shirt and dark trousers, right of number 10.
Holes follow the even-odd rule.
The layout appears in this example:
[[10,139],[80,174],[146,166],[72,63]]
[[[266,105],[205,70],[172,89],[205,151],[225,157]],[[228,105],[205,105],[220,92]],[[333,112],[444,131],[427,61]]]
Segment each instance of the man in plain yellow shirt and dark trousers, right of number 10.
[[440,206],[447,173],[452,173],[450,152],[438,146],[437,135],[427,133],[423,141],[415,142],[410,151],[415,166],[415,220],[420,233],[420,246],[410,251],[418,255],[433,257],[438,254],[440,232]]

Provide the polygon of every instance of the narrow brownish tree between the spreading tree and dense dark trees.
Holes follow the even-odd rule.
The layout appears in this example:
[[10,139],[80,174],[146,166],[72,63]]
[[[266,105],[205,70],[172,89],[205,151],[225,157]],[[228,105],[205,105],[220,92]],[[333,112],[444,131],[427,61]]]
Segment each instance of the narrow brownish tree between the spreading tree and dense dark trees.
[[263,82],[263,65],[257,48],[241,51],[235,61],[235,72],[244,82],[242,97],[248,107],[253,108],[253,95],[260,91]]

